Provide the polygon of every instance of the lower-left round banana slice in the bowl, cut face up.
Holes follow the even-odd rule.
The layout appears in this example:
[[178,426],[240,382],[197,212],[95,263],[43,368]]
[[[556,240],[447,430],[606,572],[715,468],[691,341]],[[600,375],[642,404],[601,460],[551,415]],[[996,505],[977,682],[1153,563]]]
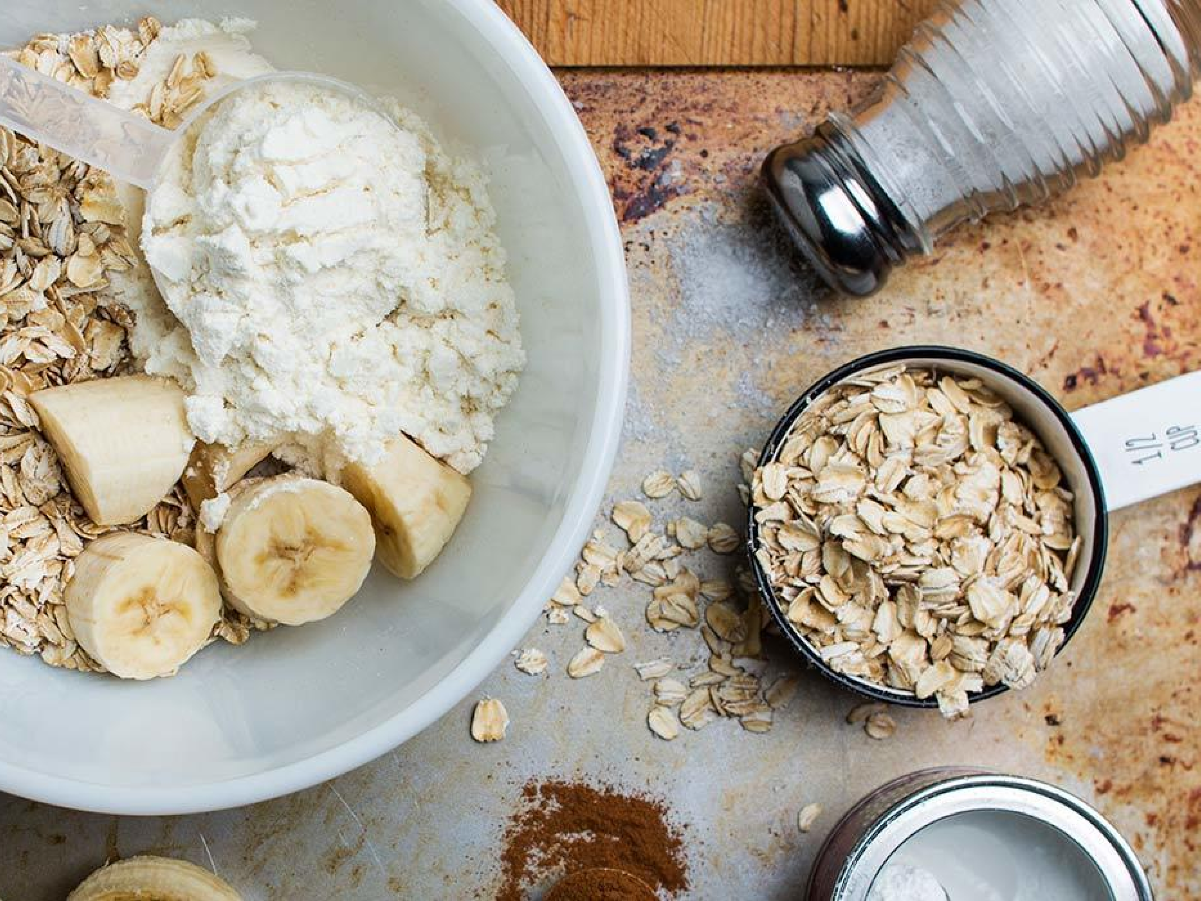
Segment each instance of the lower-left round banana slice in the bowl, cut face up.
[[89,544],[64,599],[79,644],[121,679],[172,675],[221,615],[216,573],[199,554],[132,532]]

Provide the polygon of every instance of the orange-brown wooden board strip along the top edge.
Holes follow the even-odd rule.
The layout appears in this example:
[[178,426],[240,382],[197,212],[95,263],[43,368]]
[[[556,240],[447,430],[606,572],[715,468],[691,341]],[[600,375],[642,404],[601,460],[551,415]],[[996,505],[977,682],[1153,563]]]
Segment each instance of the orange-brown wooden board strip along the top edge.
[[498,0],[552,66],[880,66],[936,0]]

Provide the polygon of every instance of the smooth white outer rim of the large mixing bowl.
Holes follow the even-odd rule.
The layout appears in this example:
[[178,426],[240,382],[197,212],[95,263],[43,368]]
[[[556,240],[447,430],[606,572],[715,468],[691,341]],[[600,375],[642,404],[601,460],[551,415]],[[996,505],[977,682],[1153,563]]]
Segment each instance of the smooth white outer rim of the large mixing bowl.
[[[440,0],[491,44],[554,135],[585,209],[584,226],[596,258],[600,308],[597,408],[581,476],[568,493],[562,519],[525,589],[484,639],[436,685],[380,724],[336,747],[300,760],[228,780],[183,787],[103,786],[46,775],[0,762],[0,792],[96,813],[174,816],[239,807],[310,788],[386,754],[467,697],[521,640],[587,539],[604,497],[621,441],[629,382],[629,286],[621,232],[600,163],[584,125],[554,73],[525,35],[491,0]],[[466,727],[465,727],[466,728]]]

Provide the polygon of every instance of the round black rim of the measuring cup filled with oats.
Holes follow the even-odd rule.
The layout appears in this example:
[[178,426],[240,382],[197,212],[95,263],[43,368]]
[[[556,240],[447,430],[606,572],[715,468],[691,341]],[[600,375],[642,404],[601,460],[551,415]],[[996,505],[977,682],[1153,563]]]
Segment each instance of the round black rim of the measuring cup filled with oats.
[[[1058,655],[1064,648],[1068,646],[1068,643],[1071,640],[1072,636],[1076,634],[1076,629],[1080,628],[1080,625],[1088,615],[1089,608],[1093,605],[1093,598],[1097,596],[1097,590],[1101,583],[1101,572],[1105,568],[1105,551],[1106,544],[1109,543],[1109,520],[1105,513],[1105,490],[1101,488],[1101,475],[1097,467],[1097,460],[1093,459],[1092,450],[1088,449],[1088,444],[1085,443],[1085,438],[1080,434],[1080,429],[1076,428],[1076,424],[1072,422],[1068,411],[1063,408],[1059,401],[1052,398],[1047,390],[1042,388],[1042,386],[1024,372],[1020,372],[998,359],[993,359],[992,357],[987,357],[982,353],[976,353],[975,351],[967,351],[960,347],[945,347],[940,345],[912,345],[868,353],[852,360],[850,363],[838,366],[831,372],[827,372],[819,381],[809,386],[809,388],[806,389],[800,398],[797,398],[767,437],[767,443],[764,446],[763,452],[759,455],[759,466],[771,463],[775,459],[801,413],[805,412],[809,404],[812,404],[818,396],[824,394],[831,387],[862,372],[864,370],[876,369],[891,363],[904,363],[913,359],[972,363],[1017,382],[1041,400],[1056,419],[1059,420],[1059,424],[1063,426],[1072,443],[1074,449],[1085,465],[1089,488],[1093,491],[1093,496],[1097,499],[1097,512],[1093,521],[1093,550],[1087,563],[1081,561],[1081,563],[1088,567],[1088,571],[1081,583],[1080,596],[1076,598],[1076,604],[1072,608],[1071,619],[1064,626],[1063,644],[1059,646],[1059,650],[1056,651],[1056,655]],[[874,686],[854,676],[837,673],[824,660],[821,660],[821,655],[818,654],[813,645],[805,640],[800,632],[796,631],[795,626],[793,626],[793,623],[788,620],[785,609],[787,605],[776,597],[776,591],[772,589],[771,583],[767,579],[767,574],[763,571],[763,567],[759,566],[759,561],[755,559],[755,550],[759,545],[759,524],[755,523],[754,514],[754,505],[749,505],[747,515],[747,553],[751,557],[751,571],[754,573],[760,597],[764,599],[764,603],[767,604],[767,609],[771,610],[771,615],[776,620],[776,625],[779,626],[779,631],[783,633],[788,643],[812,666],[814,666],[821,675],[842,687],[855,692],[856,694],[871,698],[872,700],[880,700],[886,704],[896,704],[907,708],[938,706],[938,702],[934,698],[920,699],[913,694],[901,694],[883,686]],[[978,700],[993,698],[1006,691],[1009,691],[1009,686],[998,682],[997,685],[985,688],[984,691],[973,692],[968,696],[968,700],[974,704]]]

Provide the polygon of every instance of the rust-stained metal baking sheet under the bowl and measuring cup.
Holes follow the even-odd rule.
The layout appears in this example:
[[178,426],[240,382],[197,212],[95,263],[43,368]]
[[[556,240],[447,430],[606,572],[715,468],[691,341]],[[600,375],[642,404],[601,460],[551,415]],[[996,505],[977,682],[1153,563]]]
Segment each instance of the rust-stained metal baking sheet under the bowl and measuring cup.
[[[689,515],[740,521],[740,452],[817,376],[880,347],[985,351],[1070,408],[1201,365],[1197,103],[1103,179],[958,233],[883,294],[825,297],[775,237],[755,168],[876,78],[563,74],[613,186],[634,298],[633,390],[610,502],[634,496],[651,470],[694,466],[706,493]],[[557,776],[663,798],[688,836],[691,897],[783,901],[797,896],[824,830],[868,788],[919,766],[973,763],[1077,792],[1131,840],[1159,897],[1201,897],[1197,489],[1112,518],[1093,613],[1033,688],[961,723],[897,711],[886,741],[844,723],[853,698],[813,673],[766,735],[731,721],[661,741],[644,724],[650,692],[629,664],[700,660],[700,642],[645,628],[646,595],[628,583],[597,599],[631,648],[572,681],[563,669],[582,623],[539,622],[526,644],[550,655],[550,674],[506,663],[479,690],[508,706],[503,742],[468,738],[473,697],[355,772],[244,810],[136,819],[2,798],[0,896],[60,901],[106,858],[151,852],[211,866],[247,901],[489,897],[522,783]],[[770,651],[773,672],[795,668],[782,648]],[[795,818],[809,801],[825,812],[806,835]]]

